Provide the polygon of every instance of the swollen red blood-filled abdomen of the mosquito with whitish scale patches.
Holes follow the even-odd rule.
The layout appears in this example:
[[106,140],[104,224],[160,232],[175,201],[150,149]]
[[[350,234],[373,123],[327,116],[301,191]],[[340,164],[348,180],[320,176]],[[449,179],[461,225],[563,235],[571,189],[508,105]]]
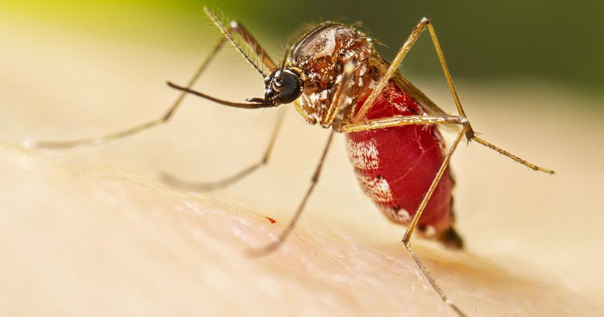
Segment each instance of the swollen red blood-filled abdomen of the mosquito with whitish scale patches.
[[[422,114],[417,101],[390,82],[363,120]],[[410,223],[444,159],[445,145],[437,128],[388,127],[347,133],[347,138],[349,157],[365,193],[388,219]],[[419,220],[425,235],[451,226],[453,186],[447,168]]]

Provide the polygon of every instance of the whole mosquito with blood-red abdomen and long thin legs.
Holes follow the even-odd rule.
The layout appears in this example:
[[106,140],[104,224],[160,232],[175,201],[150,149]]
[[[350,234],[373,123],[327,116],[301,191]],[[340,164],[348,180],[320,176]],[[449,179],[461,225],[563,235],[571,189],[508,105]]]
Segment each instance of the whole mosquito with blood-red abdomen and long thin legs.
[[[419,21],[391,63],[377,54],[373,45],[375,40],[354,25],[323,22],[289,46],[277,64],[242,24],[219,19],[207,7],[204,10],[222,37],[187,85],[168,83],[181,92],[164,116],[99,138],[45,141],[37,146],[63,149],[92,146],[141,132],[169,121],[187,94],[243,109],[293,103],[307,123],[330,129],[329,138],[306,194],[288,226],[278,239],[255,249],[252,255],[268,254],[287,239],[319,181],[333,135],[344,133],[350,161],[365,194],[389,220],[407,226],[402,239],[405,248],[443,302],[458,315],[466,316],[437,285],[411,248],[411,236],[416,229],[420,236],[448,248],[463,247],[463,240],[454,229],[452,188],[455,181],[449,171],[449,161],[461,139],[465,137],[467,142],[475,141],[489,147],[532,170],[549,174],[554,171],[533,165],[477,136],[461,106],[431,21],[426,18]],[[447,114],[398,71],[406,54],[425,30],[432,38],[457,115]],[[230,42],[262,75],[266,87],[264,97],[237,103],[191,89],[226,42]],[[262,159],[228,178],[201,184],[180,181],[172,176],[166,176],[165,180],[198,191],[227,187],[268,163],[282,123],[281,113]],[[448,150],[439,131],[443,126],[460,128]]]

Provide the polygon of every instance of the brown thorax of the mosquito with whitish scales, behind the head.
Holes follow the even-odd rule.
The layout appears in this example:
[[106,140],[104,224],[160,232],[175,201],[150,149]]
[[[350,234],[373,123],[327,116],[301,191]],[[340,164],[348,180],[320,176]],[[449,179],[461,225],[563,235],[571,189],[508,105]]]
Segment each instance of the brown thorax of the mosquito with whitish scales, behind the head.
[[[349,94],[354,97],[348,98],[342,108],[353,108],[358,98],[367,97],[380,77],[370,65],[373,54],[376,52],[369,37],[349,25],[334,22],[318,25],[292,46],[286,66],[298,69],[303,77],[301,103],[307,121],[320,122],[325,128],[331,126],[325,122],[326,110],[350,60],[356,60]],[[343,115],[344,111],[340,112],[340,120]]]

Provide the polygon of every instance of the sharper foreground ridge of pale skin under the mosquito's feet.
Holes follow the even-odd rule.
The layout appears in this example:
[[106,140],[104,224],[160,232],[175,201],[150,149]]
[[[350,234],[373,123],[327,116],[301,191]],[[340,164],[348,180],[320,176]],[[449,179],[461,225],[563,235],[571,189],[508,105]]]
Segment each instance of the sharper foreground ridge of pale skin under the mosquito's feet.
[[[274,254],[248,258],[283,223],[34,150],[0,153],[9,316],[452,315],[394,239],[371,245],[307,225]],[[471,315],[590,312],[534,267],[417,249]]]

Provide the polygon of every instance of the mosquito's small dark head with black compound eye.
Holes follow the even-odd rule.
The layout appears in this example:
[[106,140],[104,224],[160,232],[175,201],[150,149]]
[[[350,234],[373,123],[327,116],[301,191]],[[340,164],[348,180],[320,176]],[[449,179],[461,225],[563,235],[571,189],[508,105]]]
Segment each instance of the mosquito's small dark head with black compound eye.
[[278,106],[280,104],[292,103],[302,94],[304,85],[298,72],[285,68],[275,69],[265,78],[265,97],[249,98],[250,102],[262,102]]

